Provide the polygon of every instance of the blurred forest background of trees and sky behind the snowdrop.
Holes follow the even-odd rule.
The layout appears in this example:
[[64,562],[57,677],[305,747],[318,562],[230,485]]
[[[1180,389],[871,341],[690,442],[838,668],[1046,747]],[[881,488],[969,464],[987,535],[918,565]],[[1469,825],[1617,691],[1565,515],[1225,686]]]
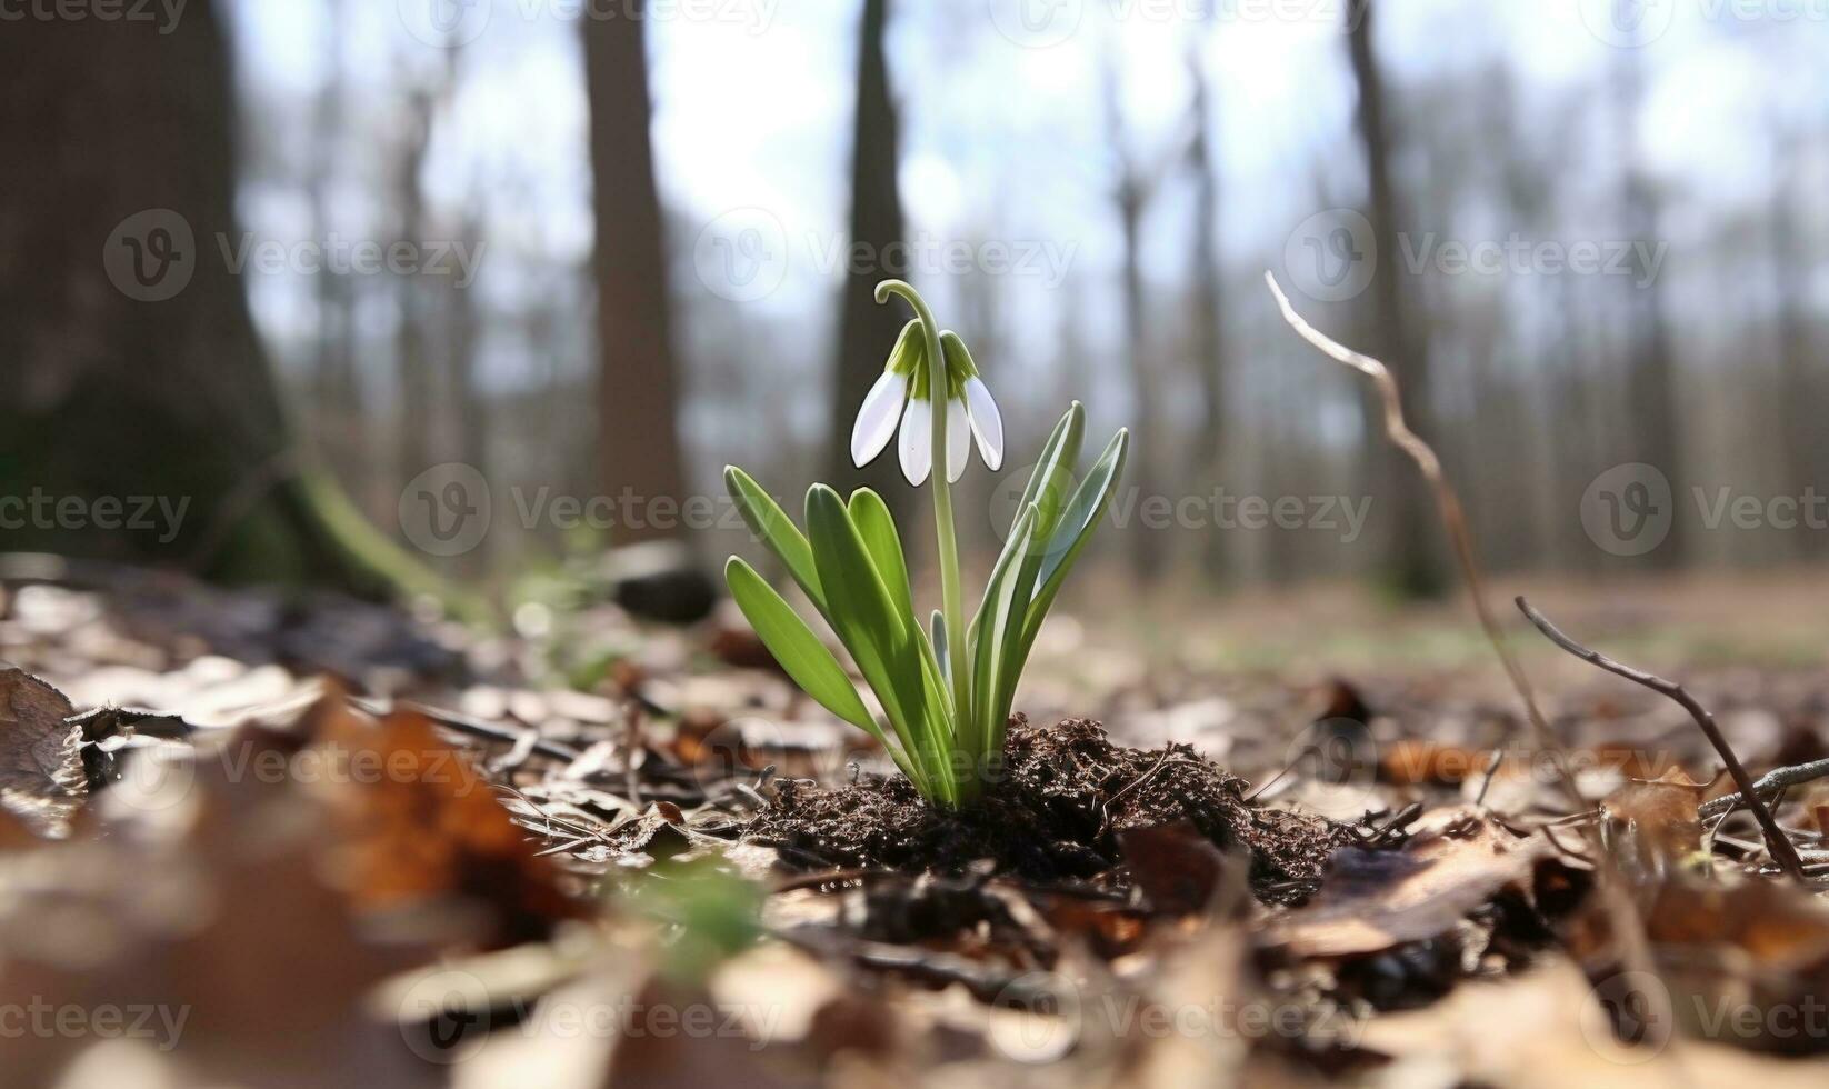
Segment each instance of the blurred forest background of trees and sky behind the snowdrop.
[[1108,586],[1439,593],[1271,271],[1397,372],[1494,571],[1798,569],[1825,49],[1813,0],[24,7],[0,491],[49,503],[5,536],[497,593],[651,538],[715,571],[739,463],[874,483],[920,555],[925,496],[847,459],[905,276],[1004,410],[973,562],[1077,397],[1136,434]]

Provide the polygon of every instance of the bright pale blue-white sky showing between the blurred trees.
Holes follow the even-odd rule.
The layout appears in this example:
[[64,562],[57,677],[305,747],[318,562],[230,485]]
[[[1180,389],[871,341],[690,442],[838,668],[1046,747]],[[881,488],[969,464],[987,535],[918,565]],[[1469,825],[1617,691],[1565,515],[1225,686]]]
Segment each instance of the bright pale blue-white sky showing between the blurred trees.
[[[433,209],[485,194],[487,238],[508,260],[485,262],[483,291],[512,298],[525,262],[576,264],[591,245],[578,26],[627,0],[236,0],[240,75],[251,101],[304,102],[344,73],[358,124],[390,124],[393,92],[459,71],[433,128],[422,185]],[[1000,300],[1028,320],[1044,353],[1055,291],[1072,273],[1114,284],[1119,260],[1110,192],[1116,157],[1103,121],[1101,71],[1116,64],[1125,148],[1172,163],[1185,134],[1187,55],[1198,51],[1218,106],[1224,210],[1220,245],[1235,265],[1277,262],[1317,205],[1361,196],[1353,95],[1341,33],[1344,0],[924,0],[894,4],[891,70],[902,104],[900,183],[911,238],[936,253],[984,242],[1021,251]],[[1765,199],[1772,119],[1824,115],[1829,0],[1641,0],[1630,38],[1611,0],[1379,0],[1375,48],[1396,86],[1503,60],[1533,104],[1580,95],[1622,59],[1646,81],[1639,154],[1668,179],[1670,231]],[[333,22],[333,11],[340,9]],[[454,13],[455,53],[430,29]],[[849,194],[858,0],[671,0],[649,16],[658,183],[691,262],[682,298],[724,297],[763,320],[825,320],[841,269]],[[333,27],[340,27],[333,31]],[[1622,48],[1639,40],[1641,48]],[[1780,75],[1781,71],[1781,75]],[[1776,92],[1776,93],[1774,93]],[[1599,102],[1595,102],[1599,108]],[[280,123],[302,124],[309,112]],[[282,134],[282,139],[285,135]],[[1595,168],[1567,137],[1571,176]],[[340,216],[379,231],[349,167]],[[1319,174],[1319,183],[1317,183]],[[369,212],[362,207],[368,205]],[[313,231],[298,192],[247,194],[256,234]],[[1145,223],[1149,276],[1185,264],[1187,196],[1172,185]],[[721,267],[768,254],[761,280],[733,287]],[[929,258],[938,265],[940,256]],[[951,284],[935,269],[940,297]],[[920,275],[922,269],[916,269]],[[302,284],[256,287],[263,326],[298,324]],[[1096,340],[1114,333],[1108,291],[1075,297]],[[525,361],[490,368],[512,384]]]

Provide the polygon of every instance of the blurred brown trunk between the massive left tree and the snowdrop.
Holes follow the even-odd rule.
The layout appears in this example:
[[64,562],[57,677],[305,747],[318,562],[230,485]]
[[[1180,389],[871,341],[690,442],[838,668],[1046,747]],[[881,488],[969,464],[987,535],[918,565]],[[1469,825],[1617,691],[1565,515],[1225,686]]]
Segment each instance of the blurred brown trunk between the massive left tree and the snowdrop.
[[[647,132],[646,7],[646,0],[631,0],[622,18],[580,20],[596,178],[598,454],[616,509],[624,496],[640,503],[638,523],[618,525],[618,542],[673,536],[673,529],[655,525],[653,503],[686,498],[668,260]],[[677,516],[671,522],[679,525]]]

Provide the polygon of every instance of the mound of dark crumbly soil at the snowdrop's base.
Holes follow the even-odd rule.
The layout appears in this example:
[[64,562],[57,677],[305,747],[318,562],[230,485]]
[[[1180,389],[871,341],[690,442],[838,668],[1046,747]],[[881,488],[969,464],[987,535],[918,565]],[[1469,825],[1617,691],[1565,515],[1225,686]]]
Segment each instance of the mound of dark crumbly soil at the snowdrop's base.
[[1032,727],[1013,716],[1004,780],[971,809],[929,805],[902,776],[865,776],[838,789],[786,780],[746,838],[807,868],[960,873],[989,858],[997,871],[1030,880],[1128,886],[1119,833],[1187,824],[1218,849],[1249,855],[1258,899],[1304,899],[1342,829],[1258,809],[1246,802],[1246,787],[1187,745],[1127,749],[1094,721]]

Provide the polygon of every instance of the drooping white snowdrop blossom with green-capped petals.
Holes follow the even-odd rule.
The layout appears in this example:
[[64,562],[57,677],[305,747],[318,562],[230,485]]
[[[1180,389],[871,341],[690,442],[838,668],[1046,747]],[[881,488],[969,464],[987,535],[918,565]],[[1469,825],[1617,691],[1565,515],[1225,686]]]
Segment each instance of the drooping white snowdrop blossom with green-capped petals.
[[[979,458],[997,472],[1004,465],[1004,417],[991,399],[989,388],[979,377],[979,368],[966,351],[958,333],[940,333],[940,355],[946,359],[946,480],[957,481],[966,472],[971,439],[979,441]],[[858,423],[850,428],[850,459],[860,469],[876,459],[902,426],[896,450],[902,476],[918,485],[933,470],[933,395],[927,368],[927,339],[920,322],[902,328],[883,377],[876,379],[858,408]]]

